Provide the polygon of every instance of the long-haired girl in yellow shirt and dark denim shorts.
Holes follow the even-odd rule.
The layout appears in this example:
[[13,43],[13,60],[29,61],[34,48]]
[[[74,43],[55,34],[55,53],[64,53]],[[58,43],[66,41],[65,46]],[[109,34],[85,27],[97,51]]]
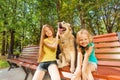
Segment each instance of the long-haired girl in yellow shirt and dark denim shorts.
[[38,56],[39,65],[32,80],[43,80],[46,71],[49,72],[51,80],[61,80],[56,62],[57,45],[58,32],[54,38],[53,27],[43,25]]

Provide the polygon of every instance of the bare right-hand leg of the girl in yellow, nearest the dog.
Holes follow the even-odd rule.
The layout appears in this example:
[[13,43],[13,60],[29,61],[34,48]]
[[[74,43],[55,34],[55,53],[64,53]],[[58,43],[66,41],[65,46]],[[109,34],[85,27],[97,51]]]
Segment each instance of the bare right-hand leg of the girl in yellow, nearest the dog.
[[57,67],[56,64],[51,64],[48,67],[48,72],[50,74],[51,80],[61,80],[60,79],[60,74],[59,74],[59,71],[58,71],[58,67]]

